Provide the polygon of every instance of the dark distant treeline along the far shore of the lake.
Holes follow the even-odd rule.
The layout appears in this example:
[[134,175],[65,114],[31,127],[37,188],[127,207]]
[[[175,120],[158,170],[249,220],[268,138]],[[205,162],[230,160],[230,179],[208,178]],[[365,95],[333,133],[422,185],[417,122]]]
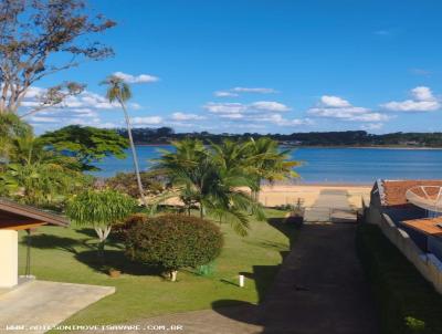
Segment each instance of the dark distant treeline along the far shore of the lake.
[[[127,131],[118,128],[117,132],[127,136]],[[291,135],[281,134],[210,134],[200,133],[175,133],[171,127],[159,128],[134,128],[134,140],[136,144],[168,144],[186,137],[200,138],[204,142],[218,143],[222,138],[259,138],[271,137],[281,144],[293,146],[408,146],[408,147],[442,147],[442,133],[391,133],[385,135],[373,135],[365,131],[347,132],[313,132],[293,133]]]

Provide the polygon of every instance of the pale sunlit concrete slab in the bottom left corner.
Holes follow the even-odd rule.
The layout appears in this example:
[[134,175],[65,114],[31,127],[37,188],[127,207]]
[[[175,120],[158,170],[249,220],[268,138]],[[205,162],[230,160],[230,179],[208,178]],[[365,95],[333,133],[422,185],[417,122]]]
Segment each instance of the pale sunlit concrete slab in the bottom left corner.
[[[113,294],[114,286],[32,281],[0,294],[0,333],[45,333],[87,305]],[[8,331],[15,325],[19,331]]]

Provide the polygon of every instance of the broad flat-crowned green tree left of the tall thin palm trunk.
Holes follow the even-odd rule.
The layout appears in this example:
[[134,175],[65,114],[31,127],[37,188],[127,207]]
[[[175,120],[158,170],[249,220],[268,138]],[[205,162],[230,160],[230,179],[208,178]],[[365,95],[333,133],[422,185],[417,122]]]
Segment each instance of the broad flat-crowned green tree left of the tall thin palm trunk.
[[93,163],[107,156],[125,158],[124,150],[128,147],[127,139],[115,131],[80,125],[45,133],[40,142],[59,153],[74,156],[83,170],[97,170]]

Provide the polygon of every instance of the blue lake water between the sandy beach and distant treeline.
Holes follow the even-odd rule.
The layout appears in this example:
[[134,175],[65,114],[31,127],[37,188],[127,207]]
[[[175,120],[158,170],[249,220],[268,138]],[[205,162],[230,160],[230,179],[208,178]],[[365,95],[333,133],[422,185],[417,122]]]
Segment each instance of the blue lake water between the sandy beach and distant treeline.
[[[143,169],[149,159],[160,156],[158,149],[168,146],[137,146]],[[385,179],[441,179],[442,149],[394,148],[297,148],[293,159],[304,161],[296,168],[302,182],[371,184]],[[131,171],[131,156],[126,159],[105,158],[97,164],[102,171],[96,176],[108,177],[117,171]]]

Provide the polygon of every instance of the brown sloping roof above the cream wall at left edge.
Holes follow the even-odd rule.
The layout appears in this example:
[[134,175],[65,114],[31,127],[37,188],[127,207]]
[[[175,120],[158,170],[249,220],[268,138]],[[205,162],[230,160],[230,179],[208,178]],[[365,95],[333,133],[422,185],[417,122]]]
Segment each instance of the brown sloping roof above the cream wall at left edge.
[[0,229],[20,229],[20,226],[39,226],[45,223],[66,227],[69,226],[69,220],[59,215],[0,198]]

